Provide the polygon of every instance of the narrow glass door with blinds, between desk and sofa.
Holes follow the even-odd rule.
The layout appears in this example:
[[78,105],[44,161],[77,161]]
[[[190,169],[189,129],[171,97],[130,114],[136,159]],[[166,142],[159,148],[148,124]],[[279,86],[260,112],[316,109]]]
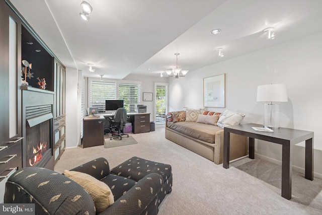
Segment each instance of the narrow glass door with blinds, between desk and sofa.
[[166,123],[168,113],[168,84],[155,83],[155,124]]

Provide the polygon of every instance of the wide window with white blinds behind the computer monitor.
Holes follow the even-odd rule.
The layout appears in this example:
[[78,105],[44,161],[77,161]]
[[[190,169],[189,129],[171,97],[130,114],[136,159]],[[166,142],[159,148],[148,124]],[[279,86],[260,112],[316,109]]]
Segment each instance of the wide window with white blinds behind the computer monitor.
[[124,100],[127,112],[135,112],[135,105],[141,102],[141,82],[117,81],[89,78],[89,107],[105,112],[105,100]]

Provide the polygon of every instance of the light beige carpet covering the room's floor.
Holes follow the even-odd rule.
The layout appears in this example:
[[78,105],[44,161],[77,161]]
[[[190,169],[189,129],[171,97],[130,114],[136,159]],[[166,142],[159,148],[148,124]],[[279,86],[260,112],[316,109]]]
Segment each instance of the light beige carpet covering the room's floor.
[[[164,125],[131,136],[138,144],[66,149],[55,171],[62,173],[99,157],[106,158],[113,168],[137,156],[172,166],[172,192],[159,206],[158,215],[322,214],[321,179],[309,181],[293,171],[292,198],[287,200],[281,196],[281,171],[275,170],[276,165],[270,162],[255,157],[253,164],[253,160],[246,158],[224,169],[166,139]],[[244,168],[243,164],[249,162],[250,166]],[[261,173],[263,168],[265,173]],[[251,175],[252,172],[256,175]],[[268,176],[277,182],[266,180]]]

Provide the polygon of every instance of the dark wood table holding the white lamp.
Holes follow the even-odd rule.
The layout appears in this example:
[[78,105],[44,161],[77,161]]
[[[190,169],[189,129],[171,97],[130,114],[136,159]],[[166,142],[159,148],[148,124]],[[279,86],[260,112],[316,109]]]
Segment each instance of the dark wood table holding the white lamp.
[[223,139],[223,168],[229,168],[229,139],[230,133],[249,137],[249,158],[254,159],[255,138],[282,145],[282,197],[292,197],[292,150],[295,144],[305,141],[305,178],[313,180],[313,138],[314,132],[279,128],[274,133],[258,132],[252,127],[263,127],[260,124],[243,124],[224,127]]

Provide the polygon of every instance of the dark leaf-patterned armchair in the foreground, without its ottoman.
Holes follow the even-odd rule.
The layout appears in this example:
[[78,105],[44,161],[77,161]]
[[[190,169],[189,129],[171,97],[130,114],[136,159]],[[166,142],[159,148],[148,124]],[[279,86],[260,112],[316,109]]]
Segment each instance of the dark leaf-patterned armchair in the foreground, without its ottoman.
[[39,167],[25,167],[6,183],[5,203],[34,203],[36,214],[156,214],[163,179],[151,173],[135,181],[110,173],[99,158],[71,171],[83,172],[106,183],[114,203],[97,213],[91,195],[63,174]]

